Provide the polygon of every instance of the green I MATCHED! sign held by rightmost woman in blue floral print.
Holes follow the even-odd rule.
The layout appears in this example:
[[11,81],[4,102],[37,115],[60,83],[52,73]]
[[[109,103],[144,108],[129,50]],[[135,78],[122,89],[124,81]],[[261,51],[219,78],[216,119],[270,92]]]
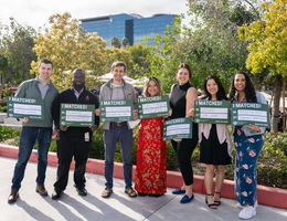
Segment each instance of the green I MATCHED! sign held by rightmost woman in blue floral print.
[[258,103],[233,103],[231,124],[234,126],[256,125],[259,127],[269,127],[269,106]]

